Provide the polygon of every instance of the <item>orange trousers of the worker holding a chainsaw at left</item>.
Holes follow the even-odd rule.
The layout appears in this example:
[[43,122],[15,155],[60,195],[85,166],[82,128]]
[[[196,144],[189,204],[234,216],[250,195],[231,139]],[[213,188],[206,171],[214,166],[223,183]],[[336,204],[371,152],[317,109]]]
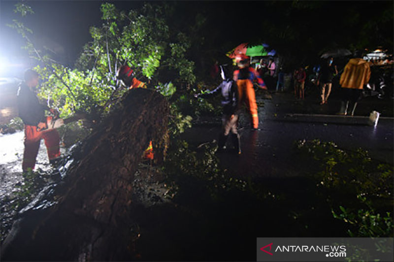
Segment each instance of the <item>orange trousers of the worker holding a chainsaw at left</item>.
[[23,151],[22,170],[34,169],[41,139],[44,139],[49,160],[60,157],[60,137],[56,129],[37,131],[33,125],[25,125],[25,149]]

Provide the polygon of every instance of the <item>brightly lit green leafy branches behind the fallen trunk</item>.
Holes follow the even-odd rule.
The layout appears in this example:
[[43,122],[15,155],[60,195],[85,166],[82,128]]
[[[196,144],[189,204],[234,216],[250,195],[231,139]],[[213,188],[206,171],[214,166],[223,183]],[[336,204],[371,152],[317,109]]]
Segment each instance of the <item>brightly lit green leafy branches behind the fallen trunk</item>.
[[[196,81],[194,62],[186,58],[190,41],[184,33],[167,26],[164,8],[148,3],[125,12],[103,3],[102,25],[90,29],[92,41],[84,46],[75,68],[56,62],[45,50],[38,49],[30,39],[33,31],[23,23],[14,20],[10,26],[26,39],[25,48],[31,57],[40,61],[36,69],[44,81],[39,96],[48,103],[53,101],[61,116],[77,110],[99,116],[109,112],[125,92],[116,80],[116,72],[124,64],[133,68],[138,79],[148,82],[148,87],[170,81],[182,87]],[[25,16],[33,10],[18,3],[15,12]]]

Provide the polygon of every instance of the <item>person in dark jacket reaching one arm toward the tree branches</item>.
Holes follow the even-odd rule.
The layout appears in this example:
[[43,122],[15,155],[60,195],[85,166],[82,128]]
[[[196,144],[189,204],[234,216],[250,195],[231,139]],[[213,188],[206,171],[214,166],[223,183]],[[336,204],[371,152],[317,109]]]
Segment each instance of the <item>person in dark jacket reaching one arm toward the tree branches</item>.
[[222,94],[221,104],[223,107],[223,127],[222,132],[219,135],[218,146],[219,149],[226,148],[226,141],[231,132],[231,140],[235,150],[238,154],[241,154],[241,140],[237,131],[239,112],[238,87],[236,83],[230,79],[230,73],[227,67],[221,65],[220,69],[223,82],[214,90],[206,91],[202,94],[195,94],[195,97],[210,97],[219,93]]

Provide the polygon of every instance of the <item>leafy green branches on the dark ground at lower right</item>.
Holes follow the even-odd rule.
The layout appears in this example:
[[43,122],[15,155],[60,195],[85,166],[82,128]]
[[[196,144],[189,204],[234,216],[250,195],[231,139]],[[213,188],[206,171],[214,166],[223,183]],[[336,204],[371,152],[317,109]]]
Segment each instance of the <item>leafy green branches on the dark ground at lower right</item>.
[[350,236],[393,236],[392,166],[376,163],[366,150],[345,151],[332,142],[303,140],[296,147],[315,162],[318,169],[310,175],[327,194],[333,217],[351,225]]

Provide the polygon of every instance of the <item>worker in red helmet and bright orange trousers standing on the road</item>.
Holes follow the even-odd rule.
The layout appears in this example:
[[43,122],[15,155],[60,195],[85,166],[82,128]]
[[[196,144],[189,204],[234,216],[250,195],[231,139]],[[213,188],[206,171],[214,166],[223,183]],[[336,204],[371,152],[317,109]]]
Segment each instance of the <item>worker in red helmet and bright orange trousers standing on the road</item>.
[[240,55],[236,58],[238,70],[234,71],[234,81],[238,86],[239,101],[245,103],[252,118],[252,130],[259,127],[259,117],[257,115],[257,104],[253,81],[257,80],[262,89],[267,89],[263,79],[255,69],[249,66],[249,57]]

